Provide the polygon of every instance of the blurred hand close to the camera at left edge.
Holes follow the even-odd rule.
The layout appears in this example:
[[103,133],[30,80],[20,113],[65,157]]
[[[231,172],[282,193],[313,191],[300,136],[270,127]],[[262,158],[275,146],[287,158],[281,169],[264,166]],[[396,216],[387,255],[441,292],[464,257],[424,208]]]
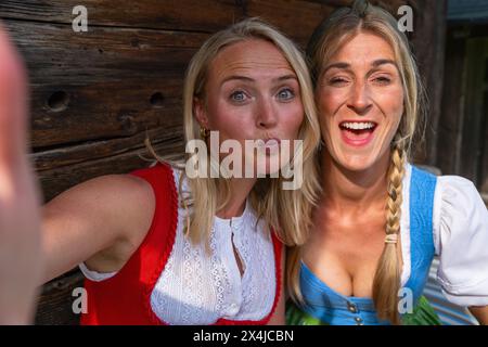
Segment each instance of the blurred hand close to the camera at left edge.
[[0,24],[0,324],[31,322],[42,271],[27,102],[24,66]]

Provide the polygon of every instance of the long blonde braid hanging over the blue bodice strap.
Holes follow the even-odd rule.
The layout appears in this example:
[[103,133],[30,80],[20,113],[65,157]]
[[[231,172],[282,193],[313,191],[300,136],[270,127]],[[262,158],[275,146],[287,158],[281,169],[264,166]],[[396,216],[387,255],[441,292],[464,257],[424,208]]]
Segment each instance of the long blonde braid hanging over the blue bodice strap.
[[406,152],[399,136],[395,139],[388,172],[388,197],[386,203],[385,247],[380,258],[373,281],[373,299],[380,319],[399,324],[398,291],[400,290],[400,261],[398,258],[398,235],[402,202],[402,179]]

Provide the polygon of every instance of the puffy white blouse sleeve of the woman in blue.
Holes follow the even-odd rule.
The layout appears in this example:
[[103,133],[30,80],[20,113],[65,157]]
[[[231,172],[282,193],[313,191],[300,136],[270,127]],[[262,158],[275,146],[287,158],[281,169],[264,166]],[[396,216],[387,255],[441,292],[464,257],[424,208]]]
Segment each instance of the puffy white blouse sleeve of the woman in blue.
[[475,185],[458,176],[438,177],[434,198],[437,280],[449,301],[488,305],[488,211]]

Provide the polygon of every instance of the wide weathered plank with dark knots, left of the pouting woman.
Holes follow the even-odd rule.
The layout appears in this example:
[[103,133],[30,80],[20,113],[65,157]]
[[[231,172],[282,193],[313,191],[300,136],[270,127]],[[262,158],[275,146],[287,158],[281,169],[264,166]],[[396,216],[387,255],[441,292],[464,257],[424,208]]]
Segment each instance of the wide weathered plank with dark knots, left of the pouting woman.
[[207,35],[7,26],[30,75],[34,149],[181,127],[184,70]]

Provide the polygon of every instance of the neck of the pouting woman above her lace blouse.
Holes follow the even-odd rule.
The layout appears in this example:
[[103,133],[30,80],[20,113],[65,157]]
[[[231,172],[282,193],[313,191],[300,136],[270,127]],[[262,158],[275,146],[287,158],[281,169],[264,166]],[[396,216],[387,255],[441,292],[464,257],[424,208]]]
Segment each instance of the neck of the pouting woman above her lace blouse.
[[230,198],[226,206],[217,211],[217,217],[230,219],[242,216],[246,207],[246,200],[254,184],[255,178],[239,178],[230,180]]

